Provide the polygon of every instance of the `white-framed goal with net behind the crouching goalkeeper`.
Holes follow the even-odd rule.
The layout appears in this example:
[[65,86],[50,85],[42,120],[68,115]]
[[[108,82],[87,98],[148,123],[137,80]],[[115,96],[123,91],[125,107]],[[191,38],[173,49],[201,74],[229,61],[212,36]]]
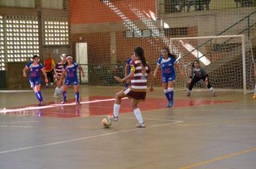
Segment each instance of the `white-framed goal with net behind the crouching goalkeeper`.
[[[253,55],[250,40],[242,35],[170,38],[170,49],[181,55],[187,77],[198,59],[213,86],[223,90],[253,90]],[[200,87],[198,84],[196,87]]]

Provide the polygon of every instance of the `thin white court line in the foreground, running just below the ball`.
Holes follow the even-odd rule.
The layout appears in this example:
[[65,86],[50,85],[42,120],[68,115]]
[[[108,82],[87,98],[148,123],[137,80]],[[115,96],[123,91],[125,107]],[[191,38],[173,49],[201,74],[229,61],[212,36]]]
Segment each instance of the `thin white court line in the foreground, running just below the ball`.
[[[175,121],[175,120],[173,120]],[[42,148],[42,147],[47,147],[47,146],[51,146],[51,145],[59,145],[59,144],[63,144],[63,143],[70,143],[70,142],[76,142],[76,141],[81,141],[81,140],[88,140],[90,138],[96,138],[96,137],[102,137],[102,136],[107,136],[107,135],[116,135],[122,132],[131,132],[131,131],[136,131],[136,130],[147,130],[148,128],[152,128],[152,127],[161,127],[164,125],[173,125],[173,124],[177,124],[183,121],[179,121],[176,120],[175,122],[168,122],[162,125],[152,125],[146,128],[136,128],[136,129],[131,129],[131,130],[123,130],[123,131],[119,131],[119,132],[110,132],[110,133],[106,133],[103,135],[93,135],[93,136],[88,136],[88,137],[81,137],[81,138],[76,138],[73,140],[64,140],[64,141],[59,141],[59,142],[55,142],[55,143],[48,143],[48,144],[42,144],[42,145],[34,145],[34,146],[29,146],[29,147],[25,147],[25,148],[17,148],[17,149],[13,149],[13,150],[5,150],[5,151],[0,151],[1,154],[3,153],[12,153],[12,152],[17,152],[20,150],[28,150],[28,149],[32,149],[32,148]]]

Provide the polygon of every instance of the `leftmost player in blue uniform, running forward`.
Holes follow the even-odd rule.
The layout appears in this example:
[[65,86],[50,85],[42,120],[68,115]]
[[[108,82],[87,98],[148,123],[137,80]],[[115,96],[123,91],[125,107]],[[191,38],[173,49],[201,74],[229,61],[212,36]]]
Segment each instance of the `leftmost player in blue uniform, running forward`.
[[41,73],[45,76],[45,82],[48,82],[45,68],[42,66],[42,64],[39,63],[39,57],[37,55],[33,56],[33,61],[28,62],[26,66],[23,69],[23,77],[27,77],[27,70],[29,69],[29,83],[30,86],[35,91],[35,96],[37,97],[37,100],[39,100],[39,106],[45,105],[44,100],[42,98],[42,92],[40,91],[41,87]]

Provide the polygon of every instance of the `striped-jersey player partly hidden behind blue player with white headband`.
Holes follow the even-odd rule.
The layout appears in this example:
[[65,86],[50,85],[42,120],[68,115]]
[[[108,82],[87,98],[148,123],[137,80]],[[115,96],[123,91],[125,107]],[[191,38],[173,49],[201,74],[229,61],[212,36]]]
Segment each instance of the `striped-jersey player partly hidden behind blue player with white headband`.
[[53,97],[60,97],[60,93],[63,91],[63,84],[64,84],[64,81],[62,80],[60,82],[60,76],[63,72],[63,65],[65,64],[66,62],[66,59],[65,59],[66,55],[65,54],[61,54],[60,56],[60,62],[58,62],[57,64],[55,64],[55,67],[54,67],[54,72],[55,72],[55,79],[57,80],[56,84],[57,84],[57,87],[55,88],[55,92],[54,92],[54,95]]

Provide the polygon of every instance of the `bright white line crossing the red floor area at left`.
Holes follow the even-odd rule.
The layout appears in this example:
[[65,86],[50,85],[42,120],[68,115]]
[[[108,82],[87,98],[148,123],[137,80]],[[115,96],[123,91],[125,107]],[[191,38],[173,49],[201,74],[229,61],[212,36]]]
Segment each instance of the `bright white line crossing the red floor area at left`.
[[[127,97],[124,97],[122,99],[128,99]],[[87,103],[93,103],[93,102],[108,102],[113,101],[115,99],[106,99],[106,100],[92,100],[92,101],[86,101],[86,102],[80,102],[81,104],[87,104]],[[40,109],[47,109],[52,107],[58,107],[58,106],[67,106],[67,105],[76,105],[75,102],[73,103],[66,103],[66,104],[53,104],[53,105],[46,105],[46,106],[36,106],[36,107],[24,107],[19,109],[0,109],[1,112],[20,112],[20,111],[26,111],[26,110],[40,110]]]

